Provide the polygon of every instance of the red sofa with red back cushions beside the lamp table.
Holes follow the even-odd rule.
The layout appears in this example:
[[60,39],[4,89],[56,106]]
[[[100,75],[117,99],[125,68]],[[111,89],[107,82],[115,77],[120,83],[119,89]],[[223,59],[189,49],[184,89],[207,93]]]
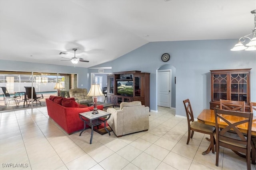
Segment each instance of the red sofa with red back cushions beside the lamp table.
[[[68,135],[71,135],[73,132],[84,128],[84,122],[80,119],[79,113],[91,111],[93,110],[93,106],[88,107],[77,104],[74,98],[62,98],[62,100],[61,98],[62,97],[58,96],[50,96],[49,99],[46,99],[48,115],[58,123]],[[103,105],[99,105],[97,108],[103,110]]]

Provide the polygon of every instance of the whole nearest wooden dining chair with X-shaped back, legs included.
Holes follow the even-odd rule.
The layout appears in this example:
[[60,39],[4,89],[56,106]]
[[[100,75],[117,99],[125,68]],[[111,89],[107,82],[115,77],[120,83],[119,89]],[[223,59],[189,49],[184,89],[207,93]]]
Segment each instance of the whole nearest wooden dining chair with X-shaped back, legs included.
[[[247,169],[251,169],[250,152],[251,152],[251,132],[252,132],[252,118],[253,113],[246,113],[240,111],[230,111],[224,109],[214,109],[215,113],[215,139],[216,139],[216,166],[219,164],[220,146],[242,152],[246,155]],[[229,121],[228,117],[237,117],[237,121]],[[219,123],[225,122],[225,125]],[[246,137],[239,130],[239,126],[248,129]],[[230,133],[229,131],[233,131]]]

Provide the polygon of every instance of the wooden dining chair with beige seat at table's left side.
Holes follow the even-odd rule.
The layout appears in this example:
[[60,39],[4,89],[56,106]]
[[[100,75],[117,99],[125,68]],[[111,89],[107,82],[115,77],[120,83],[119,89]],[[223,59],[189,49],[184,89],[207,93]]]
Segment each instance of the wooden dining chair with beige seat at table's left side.
[[190,104],[189,99],[183,100],[183,104],[186,110],[186,115],[187,115],[187,120],[188,120],[188,140],[187,140],[187,145],[190,141],[190,138],[192,139],[194,132],[200,132],[204,134],[210,135],[210,140],[206,138],[208,141],[211,142],[211,145],[209,148],[205,151],[202,152],[202,154],[208,154],[210,150],[212,150],[212,153],[214,153],[214,126],[210,125],[205,125],[203,123],[200,123],[198,121],[194,121],[194,114],[192,110],[192,106]]

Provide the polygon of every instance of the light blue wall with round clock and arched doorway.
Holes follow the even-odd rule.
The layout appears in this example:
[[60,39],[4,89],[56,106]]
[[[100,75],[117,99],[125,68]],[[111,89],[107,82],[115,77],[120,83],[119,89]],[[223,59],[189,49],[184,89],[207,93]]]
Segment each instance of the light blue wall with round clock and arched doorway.
[[[210,107],[210,70],[252,68],[251,101],[256,101],[256,51],[230,51],[237,39],[151,42],[114,61],[112,72],[150,72],[150,109],[157,110],[156,70],[164,64],[176,68],[176,115],[186,116],[183,100],[189,98],[195,117]],[[162,62],[163,53],[171,59]]]

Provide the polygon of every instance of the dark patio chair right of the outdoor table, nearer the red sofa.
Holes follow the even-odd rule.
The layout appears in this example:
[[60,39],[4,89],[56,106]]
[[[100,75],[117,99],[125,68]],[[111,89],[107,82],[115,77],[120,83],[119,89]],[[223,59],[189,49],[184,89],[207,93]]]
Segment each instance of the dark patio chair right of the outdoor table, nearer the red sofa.
[[[43,99],[43,94],[36,94],[35,88],[33,87],[33,98],[32,98],[32,87],[24,87],[26,89],[26,100],[29,101],[28,106],[30,105],[38,105],[42,106],[40,99]],[[34,104],[36,102],[36,104]]]

